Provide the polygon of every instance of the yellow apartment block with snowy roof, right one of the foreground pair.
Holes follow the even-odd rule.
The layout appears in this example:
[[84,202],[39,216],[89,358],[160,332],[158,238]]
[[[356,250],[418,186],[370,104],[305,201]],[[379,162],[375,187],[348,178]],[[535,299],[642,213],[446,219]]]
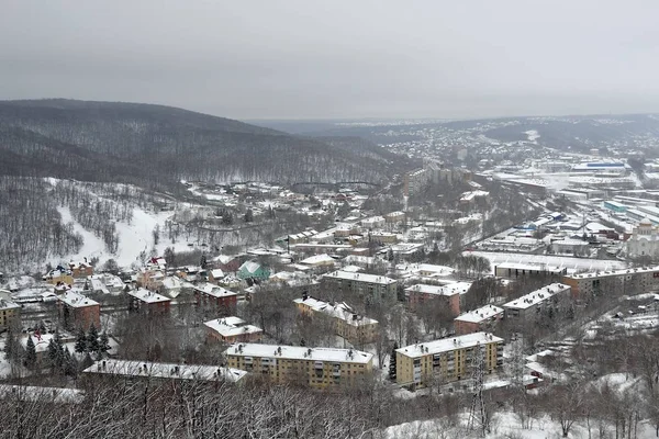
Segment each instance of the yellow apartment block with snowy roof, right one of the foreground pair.
[[483,373],[492,373],[503,364],[503,339],[474,333],[396,349],[396,383],[424,387],[468,379],[479,353]]

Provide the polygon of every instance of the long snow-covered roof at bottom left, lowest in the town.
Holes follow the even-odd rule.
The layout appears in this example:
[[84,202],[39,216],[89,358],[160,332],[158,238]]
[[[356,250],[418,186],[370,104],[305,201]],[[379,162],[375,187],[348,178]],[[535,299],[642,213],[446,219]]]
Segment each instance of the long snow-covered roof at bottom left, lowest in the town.
[[101,373],[121,376],[150,376],[172,380],[226,380],[237,382],[247,372],[215,365],[154,363],[150,361],[101,360],[85,369],[83,373]]

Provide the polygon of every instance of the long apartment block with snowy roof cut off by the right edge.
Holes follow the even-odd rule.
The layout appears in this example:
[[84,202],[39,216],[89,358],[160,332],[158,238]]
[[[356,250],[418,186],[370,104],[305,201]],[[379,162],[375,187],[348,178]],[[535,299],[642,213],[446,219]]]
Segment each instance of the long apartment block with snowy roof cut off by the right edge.
[[572,288],[576,299],[614,292],[649,293],[659,290],[659,266],[570,274],[562,282]]

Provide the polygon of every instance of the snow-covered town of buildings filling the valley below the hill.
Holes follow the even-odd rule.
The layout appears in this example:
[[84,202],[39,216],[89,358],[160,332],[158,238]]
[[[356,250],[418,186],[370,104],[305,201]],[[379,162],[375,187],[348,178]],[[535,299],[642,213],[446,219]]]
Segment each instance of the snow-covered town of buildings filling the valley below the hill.
[[[619,159],[561,160],[533,172],[426,160],[384,189],[186,182],[208,203],[198,227],[263,227],[261,245],[213,248],[188,232],[188,248],[154,243],[124,267],[80,256],[4,273],[0,373],[70,389],[92,376],[320,392],[376,380],[402,398],[474,401],[605,376],[614,369],[577,352],[659,327],[659,192]],[[295,228],[267,232],[290,212]],[[187,228],[168,224],[165,240]]]

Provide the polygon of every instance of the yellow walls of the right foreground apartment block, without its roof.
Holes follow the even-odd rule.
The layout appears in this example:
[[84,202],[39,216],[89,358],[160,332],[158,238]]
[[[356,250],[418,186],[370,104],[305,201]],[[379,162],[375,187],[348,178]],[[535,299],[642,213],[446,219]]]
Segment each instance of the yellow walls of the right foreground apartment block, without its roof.
[[[494,341],[483,344],[483,371],[492,373],[503,365],[503,342]],[[395,370],[396,383],[401,385],[413,385],[424,387],[433,381],[448,383],[469,379],[471,376],[472,358],[477,347],[456,348],[442,353],[427,353],[422,357],[407,357],[396,352]]]

